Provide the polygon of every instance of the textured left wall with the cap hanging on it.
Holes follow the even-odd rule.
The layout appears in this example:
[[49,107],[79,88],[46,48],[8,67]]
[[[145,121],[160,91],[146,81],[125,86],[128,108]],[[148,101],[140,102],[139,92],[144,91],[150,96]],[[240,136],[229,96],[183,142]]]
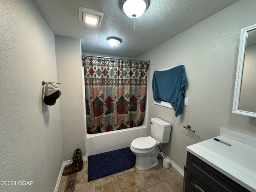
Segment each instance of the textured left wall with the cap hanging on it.
[[[0,191],[53,191],[62,166],[59,102],[46,106],[42,80],[57,81],[54,34],[30,0],[0,1]],[[34,181],[34,186],[18,186]]]

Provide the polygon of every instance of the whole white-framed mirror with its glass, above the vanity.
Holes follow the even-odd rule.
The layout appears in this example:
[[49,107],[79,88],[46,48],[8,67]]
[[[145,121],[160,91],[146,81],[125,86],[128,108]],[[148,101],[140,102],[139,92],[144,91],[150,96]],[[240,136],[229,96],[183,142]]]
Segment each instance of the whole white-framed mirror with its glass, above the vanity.
[[233,113],[256,117],[256,24],[242,28]]

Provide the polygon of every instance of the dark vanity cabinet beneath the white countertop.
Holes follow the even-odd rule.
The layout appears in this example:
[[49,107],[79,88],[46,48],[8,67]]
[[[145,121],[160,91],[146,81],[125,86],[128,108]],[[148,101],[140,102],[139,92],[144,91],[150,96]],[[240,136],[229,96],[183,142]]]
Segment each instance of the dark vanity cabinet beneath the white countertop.
[[250,192],[190,152],[185,167],[184,192]]

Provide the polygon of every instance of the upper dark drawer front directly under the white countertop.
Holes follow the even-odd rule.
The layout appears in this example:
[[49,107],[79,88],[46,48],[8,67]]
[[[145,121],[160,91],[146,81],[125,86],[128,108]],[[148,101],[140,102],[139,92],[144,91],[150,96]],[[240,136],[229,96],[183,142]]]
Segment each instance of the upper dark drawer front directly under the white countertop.
[[190,152],[187,152],[187,165],[222,192],[250,192]]

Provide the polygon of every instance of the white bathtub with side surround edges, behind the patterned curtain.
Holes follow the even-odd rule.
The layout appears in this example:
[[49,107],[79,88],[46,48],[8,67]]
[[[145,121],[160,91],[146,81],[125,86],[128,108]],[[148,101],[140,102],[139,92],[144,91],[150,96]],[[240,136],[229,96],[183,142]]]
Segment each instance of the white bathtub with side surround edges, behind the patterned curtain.
[[[84,67],[82,67],[82,78],[84,78]],[[148,84],[149,84],[149,70],[148,70]],[[147,98],[148,98],[147,86]],[[85,86],[83,83],[83,98],[85,98]],[[85,100],[84,100],[84,119],[86,119]],[[109,131],[105,133],[87,134],[86,120],[84,122],[85,128],[85,148],[86,156],[100,154],[108,151],[130,147],[132,141],[139,137],[148,136],[148,99],[146,102],[146,112],[144,123],[142,126],[128,128],[123,130]]]

